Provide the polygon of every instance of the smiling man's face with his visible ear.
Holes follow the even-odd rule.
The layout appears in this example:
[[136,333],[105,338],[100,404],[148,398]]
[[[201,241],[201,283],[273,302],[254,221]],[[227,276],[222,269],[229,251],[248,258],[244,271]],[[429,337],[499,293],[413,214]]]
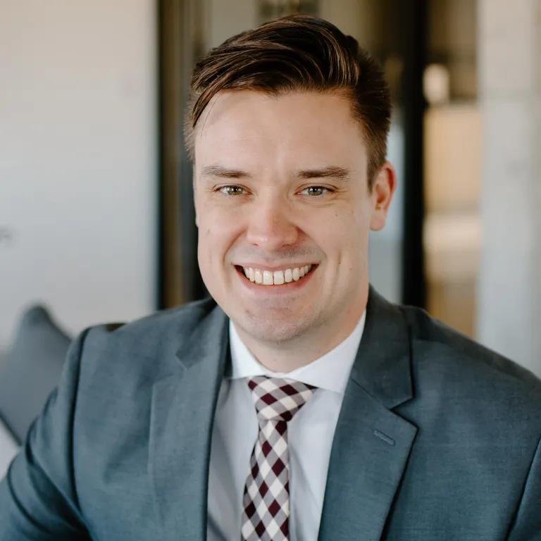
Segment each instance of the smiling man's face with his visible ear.
[[349,102],[223,92],[194,140],[199,267],[240,332],[270,343],[350,332],[368,293],[368,232],[385,223],[394,177],[380,173],[369,192]]

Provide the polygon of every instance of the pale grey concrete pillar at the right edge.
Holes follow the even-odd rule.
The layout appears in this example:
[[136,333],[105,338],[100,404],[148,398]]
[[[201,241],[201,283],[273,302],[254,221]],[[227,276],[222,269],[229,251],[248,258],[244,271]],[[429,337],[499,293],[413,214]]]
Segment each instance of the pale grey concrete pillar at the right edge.
[[478,6],[478,338],[541,375],[541,1]]

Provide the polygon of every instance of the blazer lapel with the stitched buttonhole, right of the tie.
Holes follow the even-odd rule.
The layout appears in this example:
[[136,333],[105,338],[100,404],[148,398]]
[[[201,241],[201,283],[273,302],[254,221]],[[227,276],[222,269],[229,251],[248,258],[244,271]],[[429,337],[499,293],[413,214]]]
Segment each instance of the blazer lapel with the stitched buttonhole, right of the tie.
[[320,541],[376,541],[417,428],[391,411],[413,397],[402,312],[371,289],[366,326],[338,419]]

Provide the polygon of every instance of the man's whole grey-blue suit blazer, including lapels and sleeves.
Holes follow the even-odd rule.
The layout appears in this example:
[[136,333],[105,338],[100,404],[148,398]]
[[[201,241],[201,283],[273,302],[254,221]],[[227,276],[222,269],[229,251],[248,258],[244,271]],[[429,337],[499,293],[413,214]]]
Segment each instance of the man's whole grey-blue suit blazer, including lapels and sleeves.
[[[319,539],[541,540],[540,381],[373,290],[367,311]],[[0,485],[0,540],[204,540],[227,323],[207,300],[83,332]]]

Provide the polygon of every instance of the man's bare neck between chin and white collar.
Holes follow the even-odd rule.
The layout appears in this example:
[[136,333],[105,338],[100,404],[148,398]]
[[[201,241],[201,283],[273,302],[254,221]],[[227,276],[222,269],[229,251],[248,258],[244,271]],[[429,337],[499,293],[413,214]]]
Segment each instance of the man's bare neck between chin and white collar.
[[346,340],[359,323],[365,309],[366,303],[345,313],[345,321],[342,321],[338,328],[323,323],[309,335],[278,344],[255,340],[242,328],[235,326],[235,329],[244,345],[265,368],[276,373],[289,373],[316,361]]

